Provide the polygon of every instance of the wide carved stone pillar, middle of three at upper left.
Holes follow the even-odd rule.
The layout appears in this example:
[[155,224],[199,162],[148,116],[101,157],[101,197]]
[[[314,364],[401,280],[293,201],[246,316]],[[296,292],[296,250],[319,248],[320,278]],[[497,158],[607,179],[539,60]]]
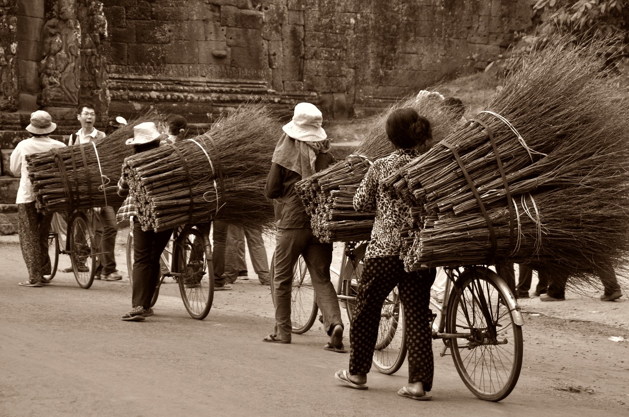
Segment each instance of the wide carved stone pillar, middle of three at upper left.
[[[47,1],[40,63],[40,106],[77,107],[81,72],[81,26],[76,0]],[[50,16],[50,17],[48,17]]]

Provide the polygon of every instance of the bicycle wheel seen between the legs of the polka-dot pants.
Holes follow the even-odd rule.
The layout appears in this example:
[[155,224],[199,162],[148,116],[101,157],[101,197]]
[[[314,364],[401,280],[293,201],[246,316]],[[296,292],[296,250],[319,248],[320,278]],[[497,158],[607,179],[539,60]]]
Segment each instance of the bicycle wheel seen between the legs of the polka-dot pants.
[[404,306],[399,301],[396,287],[382,303],[373,363],[382,374],[391,375],[399,371],[405,358]]

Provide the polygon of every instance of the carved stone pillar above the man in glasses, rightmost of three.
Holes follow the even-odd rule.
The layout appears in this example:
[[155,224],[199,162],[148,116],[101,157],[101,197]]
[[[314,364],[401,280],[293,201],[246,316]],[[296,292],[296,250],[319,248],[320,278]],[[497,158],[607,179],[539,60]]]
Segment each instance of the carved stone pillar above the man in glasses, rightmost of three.
[[107,37],[107,19],[100,1],[79,0],[77,8],[81,24],[79,102],[93,103],[96,114],[104,116],[109,108],[109,89],[101,41]]

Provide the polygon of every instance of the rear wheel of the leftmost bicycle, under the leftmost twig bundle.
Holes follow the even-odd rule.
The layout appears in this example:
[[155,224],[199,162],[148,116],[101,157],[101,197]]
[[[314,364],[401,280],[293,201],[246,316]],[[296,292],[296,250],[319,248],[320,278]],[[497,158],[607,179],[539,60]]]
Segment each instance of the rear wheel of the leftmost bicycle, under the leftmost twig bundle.
[[87,221],[87,216],[76,212],[70,220],[70,261],[74,278],[81,288],[89,288],[94,282],[96,271],[96,245],[94,232]]

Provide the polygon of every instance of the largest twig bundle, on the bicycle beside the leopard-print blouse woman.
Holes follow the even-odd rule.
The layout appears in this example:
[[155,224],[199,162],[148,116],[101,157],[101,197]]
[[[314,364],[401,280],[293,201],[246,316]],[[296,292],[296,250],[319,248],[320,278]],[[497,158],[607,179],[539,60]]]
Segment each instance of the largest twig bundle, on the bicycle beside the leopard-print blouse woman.
[[629,114],[609,43],[534,51],[479,122],[387,179],[415,204],[406,268],[515,261],[559,277],[624,263]]

